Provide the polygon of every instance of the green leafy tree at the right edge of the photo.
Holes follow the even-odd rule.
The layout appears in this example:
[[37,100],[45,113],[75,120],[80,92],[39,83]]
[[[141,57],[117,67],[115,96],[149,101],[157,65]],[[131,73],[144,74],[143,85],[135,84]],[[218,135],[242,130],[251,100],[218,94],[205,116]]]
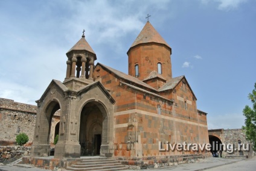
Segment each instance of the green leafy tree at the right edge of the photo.
[[252,102],[252,108],[246,105],[243,109],[245,126],[242,126],[242,129],[245,131],[246,139],[253,143],[252,148],[256,150],[256,82],[254,90],[252,90],[252,93],[249,93],[248,98]]

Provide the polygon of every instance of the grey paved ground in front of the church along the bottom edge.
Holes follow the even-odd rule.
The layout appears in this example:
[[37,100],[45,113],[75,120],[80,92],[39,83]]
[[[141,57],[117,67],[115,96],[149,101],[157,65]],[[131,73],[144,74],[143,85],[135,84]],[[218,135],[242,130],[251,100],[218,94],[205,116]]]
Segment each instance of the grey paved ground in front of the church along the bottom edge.
[[[2,171],[43,171],[45,169],[38,169],[36,167],[18,167],[18,166],[7,166],[0,165],[0,170]],[[227,158],[206,158],[205,160],[200,161],[199,163],[190,163],[190,164],[181,164],[177,166],[168,166],[168,167],[159,167],[154,169],[146,169],[146,170],[232,170],[232,171],[240,171],[240,170],[256,170],[256,159],[251,160],[242,160],[242,159],[227,159]],[[48,170],[49,171],[49,170]],[[130,170],[129,170],[130,171]]]

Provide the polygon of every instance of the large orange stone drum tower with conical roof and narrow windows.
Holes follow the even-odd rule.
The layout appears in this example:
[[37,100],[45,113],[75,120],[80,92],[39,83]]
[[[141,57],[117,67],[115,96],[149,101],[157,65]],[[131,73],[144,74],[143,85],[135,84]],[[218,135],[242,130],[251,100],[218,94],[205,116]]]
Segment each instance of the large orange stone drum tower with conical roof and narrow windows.
[[[153,85],[155,88],[161,87],[162,84],[172,78],[171,48],[149,20],[130,46],[127,55],[129,58],[129,75],[135,76],[147,84],[149,84],[150,79],[151,82],[162,82]],[[152,81],[155,78],[157,80]]]

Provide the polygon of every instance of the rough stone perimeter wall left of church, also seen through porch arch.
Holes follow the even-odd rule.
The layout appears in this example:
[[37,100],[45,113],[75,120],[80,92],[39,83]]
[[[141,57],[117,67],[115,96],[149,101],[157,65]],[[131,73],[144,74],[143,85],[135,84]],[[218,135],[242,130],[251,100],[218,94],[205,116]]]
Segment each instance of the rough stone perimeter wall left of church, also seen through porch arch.
[[[36,112],[36,105],[0,98],[0,145],[15,144],[16,135],[21,132],[28,135],[29,143],[33,142]],[[51,122],[50,143],[53,143],[55,126],[59,118],[60,111],[57,111]]]

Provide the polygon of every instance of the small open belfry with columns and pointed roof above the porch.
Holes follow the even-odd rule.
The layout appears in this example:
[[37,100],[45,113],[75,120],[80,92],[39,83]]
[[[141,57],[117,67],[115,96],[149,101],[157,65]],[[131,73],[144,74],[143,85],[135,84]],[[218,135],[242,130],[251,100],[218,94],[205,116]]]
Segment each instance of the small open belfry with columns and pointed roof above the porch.
[[66,53],[66,78],[93,79],[94,61],[97,60],[94,50],[85,40],[85,30],[82,38]]

